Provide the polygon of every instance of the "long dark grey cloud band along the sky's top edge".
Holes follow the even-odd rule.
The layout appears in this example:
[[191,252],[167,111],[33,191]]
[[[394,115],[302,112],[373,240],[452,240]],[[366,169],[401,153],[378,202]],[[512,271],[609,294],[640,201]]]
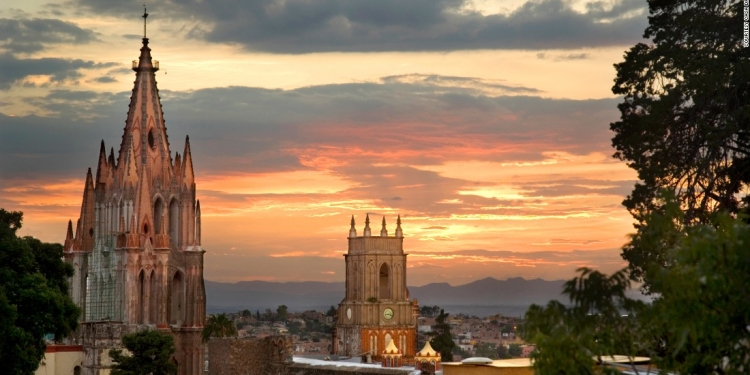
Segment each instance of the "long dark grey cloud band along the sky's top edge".
[[[123,16],[125,3],[81,0]],[[532,0],[507,14],[467,10],[468,0],[172,0],[155,14],[185,35],[271,53],[576,49],[630,45],[646,27],[643,1]]]

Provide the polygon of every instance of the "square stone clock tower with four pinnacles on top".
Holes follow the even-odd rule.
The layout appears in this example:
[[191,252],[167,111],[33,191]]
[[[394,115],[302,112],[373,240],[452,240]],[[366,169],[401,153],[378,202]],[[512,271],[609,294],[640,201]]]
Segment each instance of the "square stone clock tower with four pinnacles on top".
[[401,217],[394,236],[388,236],[385,217],[379,236],[372,236],[370,217],[362,236],[352,217],[346,261],[346,296],[339,304],[333,353],[371,354],[380,359],[393,341],[404,363],[414,360],[419,306],[406,288],[406,256]]

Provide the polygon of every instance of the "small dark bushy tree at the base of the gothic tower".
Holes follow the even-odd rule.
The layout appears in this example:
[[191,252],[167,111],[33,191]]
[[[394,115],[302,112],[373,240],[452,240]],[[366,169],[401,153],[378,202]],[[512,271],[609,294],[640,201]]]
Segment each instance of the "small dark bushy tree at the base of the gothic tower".
[[111,349],[112,375],[172,375],[177,373],[177,365],[172,362],[175,352],[172,336],[159,331],[148,330],[131,333],[122,337],[122,349]]

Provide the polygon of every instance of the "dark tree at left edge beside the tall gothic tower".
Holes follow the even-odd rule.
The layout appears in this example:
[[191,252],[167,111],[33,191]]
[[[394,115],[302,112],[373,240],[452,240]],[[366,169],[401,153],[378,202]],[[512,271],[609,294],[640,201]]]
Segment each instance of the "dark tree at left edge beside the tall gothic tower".
[[22,219],[0,209],[0,362],[11,374],[33,373],[44,336],[67,336],[80,314],[68,295],[73,268],[62,261],[62,245],[18,237]]

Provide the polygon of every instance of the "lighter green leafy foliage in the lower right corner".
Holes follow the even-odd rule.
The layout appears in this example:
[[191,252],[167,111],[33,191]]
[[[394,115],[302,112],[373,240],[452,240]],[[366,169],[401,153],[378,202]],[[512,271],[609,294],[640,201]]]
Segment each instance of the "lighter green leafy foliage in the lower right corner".
[[[670,228],[663,222],[681,220],[677,202],[667,199],[666,207],[646,224]],[[658,291],[652,303],[624,294],[627,269],[609,277],[584,269],[565,287],[572,307],[553,301],[529,310],[527,339],[537,344],[532,356],[540,374],[559,368],[587,373],[614,354],[646,355],[658,368],[680,374],[747,372],[750,225],[719,215],[679,233],[663,234],[676,238],[665,255],[671,266],[652,264],[646,273]]]

